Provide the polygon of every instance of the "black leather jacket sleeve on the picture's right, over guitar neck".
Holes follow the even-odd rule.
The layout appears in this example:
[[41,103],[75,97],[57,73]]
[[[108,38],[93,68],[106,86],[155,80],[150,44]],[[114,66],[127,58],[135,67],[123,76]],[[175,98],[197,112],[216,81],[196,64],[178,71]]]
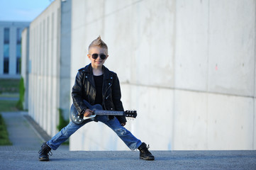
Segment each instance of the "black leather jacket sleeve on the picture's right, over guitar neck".
[[[123,111],[123,103],[121,101],[121,89],[120,83],[117,75],[113,77],[113,86],[112,86],[112,99],[113,104],[115,105],[116,111]],[[120,123],[126,123],[126,116],[124,115],[116,115],[116,118],[119,120]]]

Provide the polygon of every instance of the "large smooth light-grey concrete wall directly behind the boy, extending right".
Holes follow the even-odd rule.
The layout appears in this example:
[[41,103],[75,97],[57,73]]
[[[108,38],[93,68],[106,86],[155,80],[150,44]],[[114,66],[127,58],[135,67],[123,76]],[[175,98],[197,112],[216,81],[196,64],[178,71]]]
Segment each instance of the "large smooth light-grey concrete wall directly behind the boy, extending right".
[[[126,128],[150,149],[256,149],[255,0],[73,0],[70,87],[98,35],[118,73]],[[89,123],[71,150],[128,149]]]

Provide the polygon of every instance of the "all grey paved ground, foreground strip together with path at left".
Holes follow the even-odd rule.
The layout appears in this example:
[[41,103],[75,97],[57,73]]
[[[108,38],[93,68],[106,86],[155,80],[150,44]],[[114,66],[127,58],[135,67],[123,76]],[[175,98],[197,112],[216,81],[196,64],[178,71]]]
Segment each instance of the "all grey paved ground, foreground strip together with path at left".
[[256,169],[256,151],[152,151],[153,162],[137,152],[77,151],[67,146],[52,152],[50,162],[38,161],[45,135],[26,112],[2,113],[13,146],[0,147],[0,169]]

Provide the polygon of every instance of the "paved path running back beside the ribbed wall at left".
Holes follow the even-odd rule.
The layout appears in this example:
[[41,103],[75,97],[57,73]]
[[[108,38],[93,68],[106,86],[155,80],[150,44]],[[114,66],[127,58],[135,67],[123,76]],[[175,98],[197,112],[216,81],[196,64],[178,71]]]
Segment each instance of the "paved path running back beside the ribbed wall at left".
[[[0,146],[0,151],[38,151],[42,143],[50,139],[27,112],[2,112],[1,115],[13,145]],[[68,146],[63,145],[60,149],[68,150]]]

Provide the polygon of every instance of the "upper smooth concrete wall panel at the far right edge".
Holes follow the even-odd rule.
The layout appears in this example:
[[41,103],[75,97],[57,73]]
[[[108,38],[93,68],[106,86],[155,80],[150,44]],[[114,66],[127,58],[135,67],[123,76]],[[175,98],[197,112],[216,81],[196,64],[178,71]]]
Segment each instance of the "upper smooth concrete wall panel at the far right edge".
[[210,2],[208,90],[253,96],[255,1],[230,2]]

